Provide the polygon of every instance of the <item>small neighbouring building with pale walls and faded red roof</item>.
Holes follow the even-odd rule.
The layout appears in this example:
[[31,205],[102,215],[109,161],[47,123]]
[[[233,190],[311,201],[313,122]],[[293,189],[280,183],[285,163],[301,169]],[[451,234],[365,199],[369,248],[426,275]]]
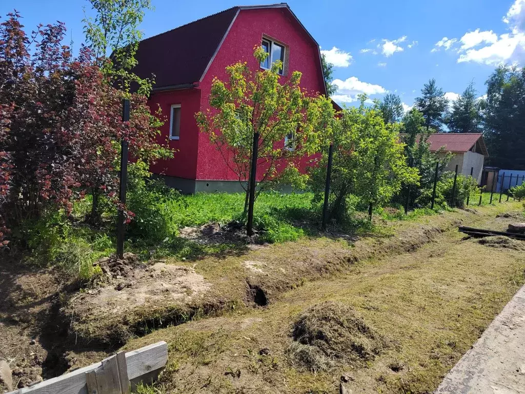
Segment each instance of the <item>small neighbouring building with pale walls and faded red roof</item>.
[[[454,158],[448,163],[447,170],[474,177],[481,182],[485,158],[489,157],[487,147],[480,133],[434,133],[428,137],[430,151],[436,152],[444,147],[444,152],[454,153]],[[445,154],[445,153],[444,153]]]

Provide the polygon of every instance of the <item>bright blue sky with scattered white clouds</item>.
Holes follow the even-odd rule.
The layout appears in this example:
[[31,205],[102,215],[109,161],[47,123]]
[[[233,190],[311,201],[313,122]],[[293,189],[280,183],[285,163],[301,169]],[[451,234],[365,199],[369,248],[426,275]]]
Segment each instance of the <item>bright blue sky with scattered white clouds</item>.
[[[152,0],[144,37],[222,11],[264,1]],[[387,91],[412,105],[423,84],[436,78],[453,99],[470,81],[479,96],[500,63],[525,65],[525,0],[289,0],[288,4],[335,67],[336,101],[360,92]],[[65,22],[68,41],[83,41],[85,0],[2,0],[0,15],[14,8],[24,24]],[[89,8],[89,7],[88,7]],[[87,9],[89,13],[89,9]],[[335,49],[334,49],[335,48]]]

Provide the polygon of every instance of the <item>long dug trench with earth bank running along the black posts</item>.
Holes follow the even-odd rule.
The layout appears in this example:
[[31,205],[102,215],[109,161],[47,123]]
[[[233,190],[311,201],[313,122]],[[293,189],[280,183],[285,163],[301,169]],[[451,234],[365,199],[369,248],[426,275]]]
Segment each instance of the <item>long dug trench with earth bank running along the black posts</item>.
[[386,235],[351,241],[337,235],[197,262],[115,264],[103,269],[106,283],[83,292],[60,283],[49,269],[13,268],[16,264],[6,261],[0,337],[10,339],[0,346],[0,358],[9,360],[15,385],[27,386],[100,360],[132,338],[162,327],[267,308],[290,289],[343,275],[369,258],[415,251],[459,223],[472,224],[499,211],[381,223],[395,227]]

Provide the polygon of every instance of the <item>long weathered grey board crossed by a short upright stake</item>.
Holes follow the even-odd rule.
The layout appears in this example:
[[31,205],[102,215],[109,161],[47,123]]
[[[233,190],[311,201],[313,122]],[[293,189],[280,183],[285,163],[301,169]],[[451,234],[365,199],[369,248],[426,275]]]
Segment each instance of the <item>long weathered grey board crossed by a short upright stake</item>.
[[[164,341],[129,351],[125,354],[128,379],[162,368],[167,362],[167,344]],[[24,387],[8,394],[88,394],[86,374],[102,367],[102,362],[77,369],[53,379],[44,380],[31,387]],[[92,393],[89,393],[92,394]]]

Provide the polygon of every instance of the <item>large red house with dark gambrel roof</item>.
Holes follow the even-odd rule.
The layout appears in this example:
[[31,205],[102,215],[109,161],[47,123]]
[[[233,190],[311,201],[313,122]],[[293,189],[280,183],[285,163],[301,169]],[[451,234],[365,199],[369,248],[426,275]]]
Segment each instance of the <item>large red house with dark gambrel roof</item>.
[[[253,48],[262,45],[270,63],[258,64]],[[209,108],[214,77],[225,80],[225,68],[247,61],[251,69],[283,61],[282,81],[302,72],[301,87],[326,95],[319,45],[286,3],[238,6],[145,39],[137,53],[135,72],[155,75],[150,106],[167,117],[162,128],[175,157],[151,168],[166,184],[184,193],[240,191],[236,175],[199,132],[195,113]],[[284,142],[283,142],[284,143]]]

